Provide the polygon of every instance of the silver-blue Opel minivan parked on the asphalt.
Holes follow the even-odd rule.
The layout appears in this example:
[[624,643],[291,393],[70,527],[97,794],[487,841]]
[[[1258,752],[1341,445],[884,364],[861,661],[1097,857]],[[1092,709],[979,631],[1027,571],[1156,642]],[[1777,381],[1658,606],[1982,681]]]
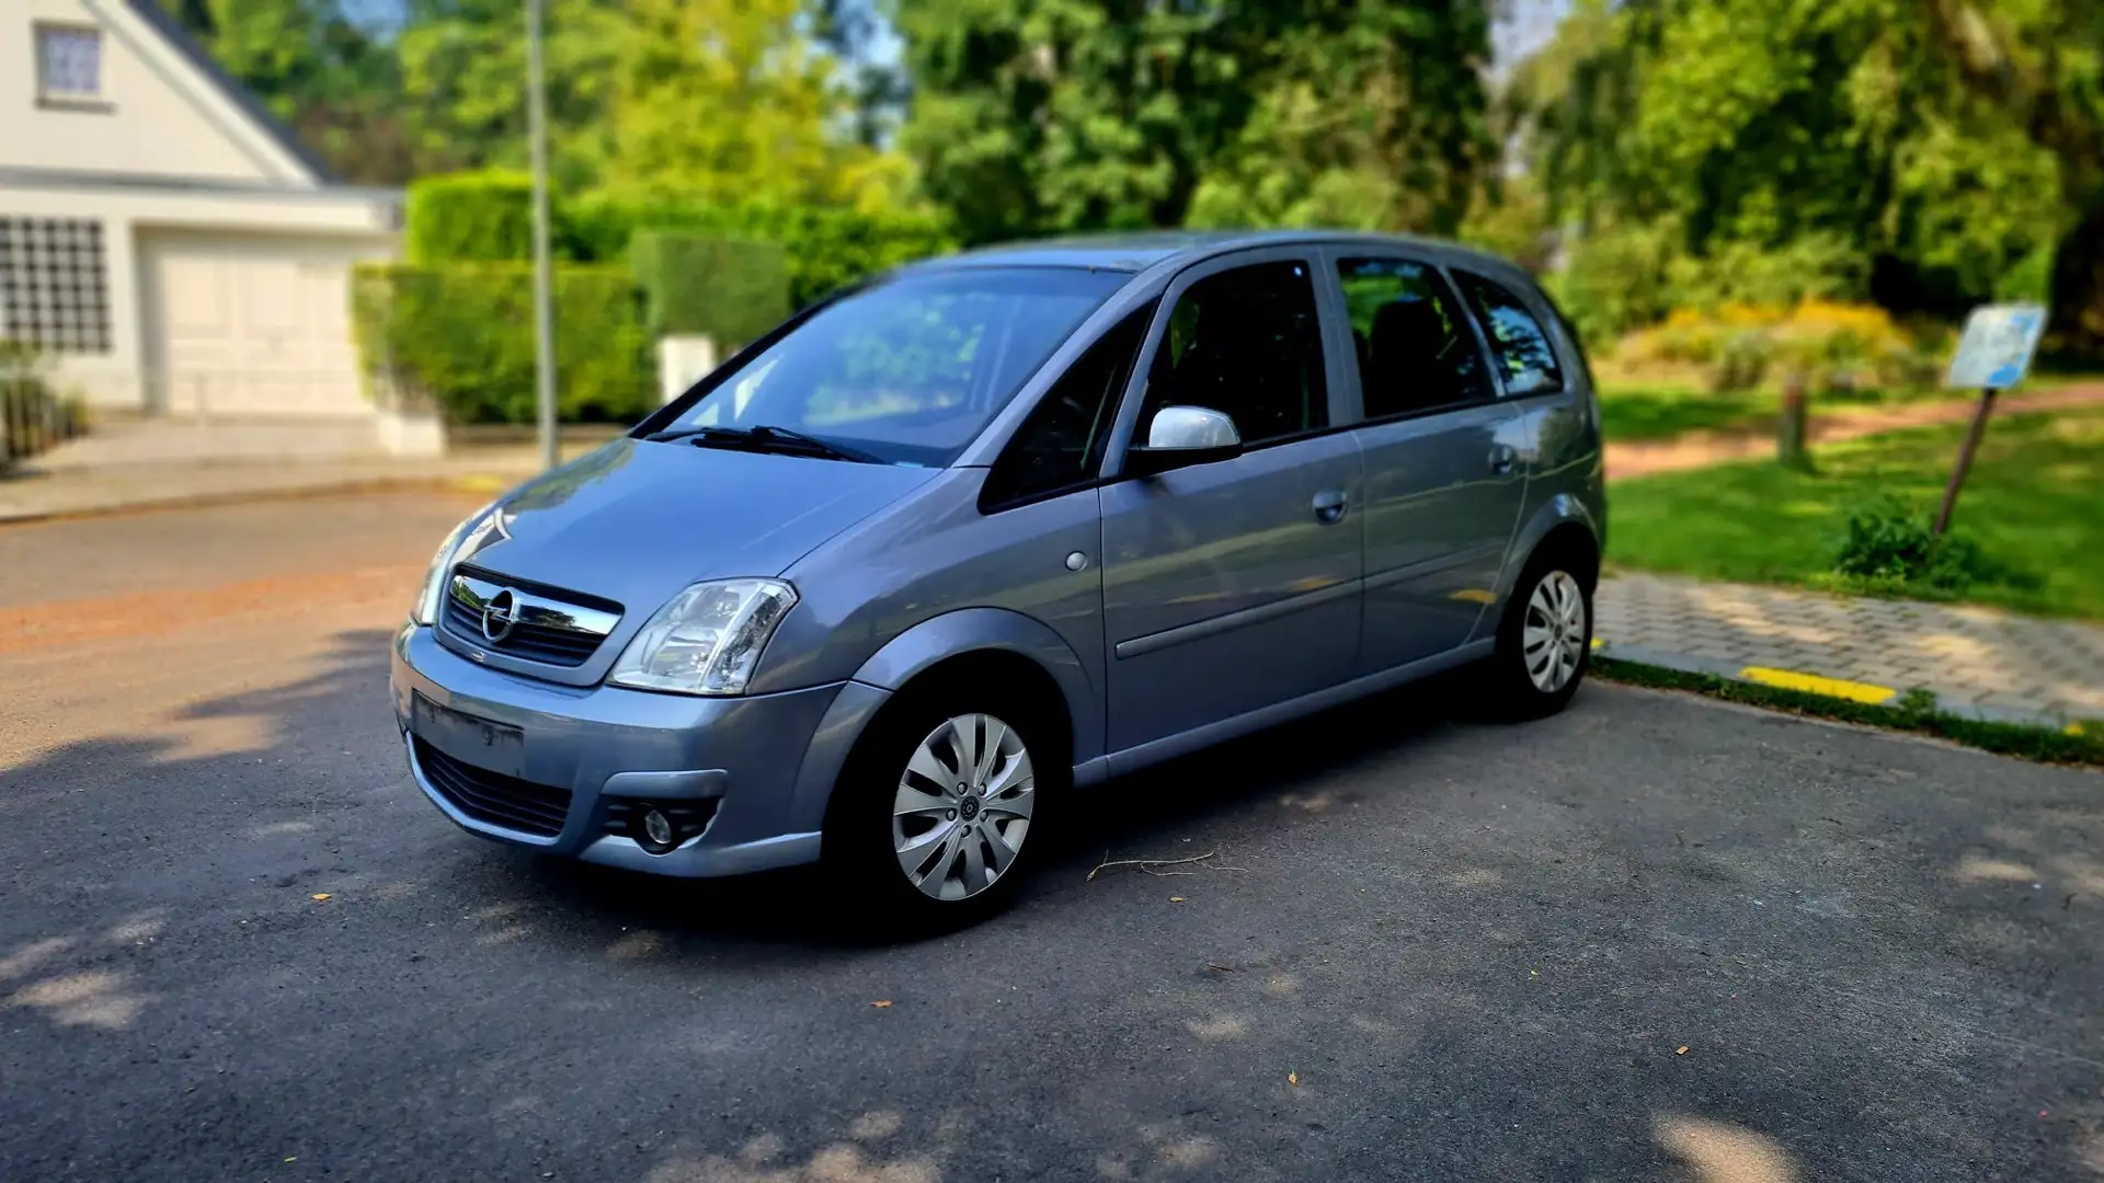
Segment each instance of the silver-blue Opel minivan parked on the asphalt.
[[459,825],[667,876],[825,859],[995,907],[1065,796],[1477,663],[1586,671],[1599,404],[1439,242],[1041,242],[810,307],[478,512],[393,642]]

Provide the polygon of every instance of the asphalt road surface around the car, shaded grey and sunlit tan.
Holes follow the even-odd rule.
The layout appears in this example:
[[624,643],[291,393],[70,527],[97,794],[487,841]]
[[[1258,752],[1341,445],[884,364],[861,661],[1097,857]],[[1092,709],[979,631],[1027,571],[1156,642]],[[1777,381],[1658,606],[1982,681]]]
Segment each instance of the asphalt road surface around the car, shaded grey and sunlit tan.
[[423,802],[385,636],[469,507],[0,530],[0,1179],[2104,1179],[2104,777],[1435,686],[886,945]]

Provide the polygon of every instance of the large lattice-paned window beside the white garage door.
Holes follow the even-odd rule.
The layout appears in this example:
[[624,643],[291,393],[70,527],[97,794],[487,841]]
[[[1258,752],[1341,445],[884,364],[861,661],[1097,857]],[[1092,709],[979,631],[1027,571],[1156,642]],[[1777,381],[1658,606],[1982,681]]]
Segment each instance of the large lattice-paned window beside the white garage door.
[[0,337],[55,354],[109,352],[99,221],[0,217]]

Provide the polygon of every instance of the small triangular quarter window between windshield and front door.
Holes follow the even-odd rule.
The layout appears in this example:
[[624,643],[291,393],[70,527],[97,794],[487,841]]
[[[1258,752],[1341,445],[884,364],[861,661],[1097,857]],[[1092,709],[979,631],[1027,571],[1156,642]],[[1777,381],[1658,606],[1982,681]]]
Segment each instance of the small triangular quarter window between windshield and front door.
[[980,505],[1035,501],[1096,480],[1117,396],[1126,389],[1153,314],[1155,307],[1147,305],[1119,320],[1067,366],[993,463]]

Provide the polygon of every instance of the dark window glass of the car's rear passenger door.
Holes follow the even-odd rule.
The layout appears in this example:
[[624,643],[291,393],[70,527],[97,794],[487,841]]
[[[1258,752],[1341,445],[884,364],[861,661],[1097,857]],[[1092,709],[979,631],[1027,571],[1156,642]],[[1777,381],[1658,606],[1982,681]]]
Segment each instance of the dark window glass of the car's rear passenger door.
[[1475,330],[1439,272],[1405,259],[1338,259],[1365,417],[1492,398]]

